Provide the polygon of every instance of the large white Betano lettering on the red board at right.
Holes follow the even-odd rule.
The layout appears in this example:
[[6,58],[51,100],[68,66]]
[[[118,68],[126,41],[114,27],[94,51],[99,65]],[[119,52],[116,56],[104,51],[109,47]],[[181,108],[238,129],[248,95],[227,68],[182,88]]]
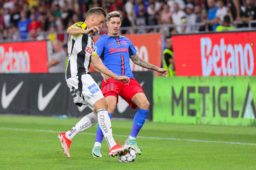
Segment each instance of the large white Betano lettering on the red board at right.
[[200,47],[203,76],[211,75],[212,71],[216,76],[221,72],[224,76],[252,75],[254,56],[251,44],[225,44],[224,38],[220,39],[220,44],[212,44],[211,38],[206,37],[200,38]]

